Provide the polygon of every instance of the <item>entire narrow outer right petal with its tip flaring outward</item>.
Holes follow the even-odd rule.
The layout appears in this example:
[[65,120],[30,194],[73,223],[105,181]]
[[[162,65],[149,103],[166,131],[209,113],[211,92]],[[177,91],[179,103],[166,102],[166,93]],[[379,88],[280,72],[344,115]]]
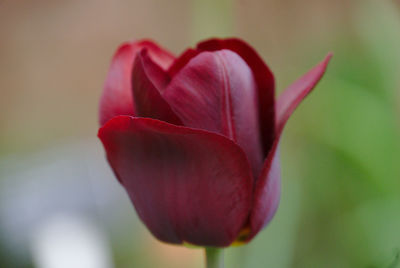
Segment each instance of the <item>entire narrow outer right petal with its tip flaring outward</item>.
[[276,139],[264,163],[255,186],[253,208],[250,214],[250,234],[247,241],[263,229],[274,216],[280,199],[279,139],[290,115],[322,78],[332,54],[302,76],[279,97],[276,106]]

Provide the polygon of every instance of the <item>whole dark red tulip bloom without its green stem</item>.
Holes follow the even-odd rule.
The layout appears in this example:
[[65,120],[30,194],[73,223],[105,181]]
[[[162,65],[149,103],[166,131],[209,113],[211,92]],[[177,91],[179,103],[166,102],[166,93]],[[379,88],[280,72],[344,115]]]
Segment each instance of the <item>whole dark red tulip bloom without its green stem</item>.
[[178,58],[147,40],[118,49],[98,136],[155,237],[224,247],[268,224],[282,129],[330,57],[275,101],[274,76],[239,39],[207,40]]

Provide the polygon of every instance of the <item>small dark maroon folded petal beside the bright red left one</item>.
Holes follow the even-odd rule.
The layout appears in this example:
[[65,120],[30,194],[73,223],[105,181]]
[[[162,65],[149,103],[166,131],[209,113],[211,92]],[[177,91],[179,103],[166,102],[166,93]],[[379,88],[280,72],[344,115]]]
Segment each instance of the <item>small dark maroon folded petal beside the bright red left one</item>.
[[181,124],[179,118],[161,96],[169,80],[168,73],[152,61],[146,49],[138,53],[132,72],[136,116]]

